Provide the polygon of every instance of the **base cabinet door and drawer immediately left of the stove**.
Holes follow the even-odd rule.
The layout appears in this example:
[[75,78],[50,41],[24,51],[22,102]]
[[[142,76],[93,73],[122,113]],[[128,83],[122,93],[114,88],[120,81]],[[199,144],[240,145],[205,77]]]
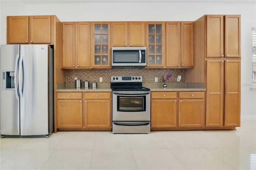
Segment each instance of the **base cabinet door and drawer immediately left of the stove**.
[[92,92],[84,95],[86,128],[111,128],[111,93]]

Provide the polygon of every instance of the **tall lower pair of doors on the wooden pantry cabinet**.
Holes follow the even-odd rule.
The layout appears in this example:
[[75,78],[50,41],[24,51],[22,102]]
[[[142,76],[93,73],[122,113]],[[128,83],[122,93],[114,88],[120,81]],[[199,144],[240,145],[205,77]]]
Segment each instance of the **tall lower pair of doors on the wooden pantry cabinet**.
[[206,73],[206,126],[240,126],[240,60],[208,60]]

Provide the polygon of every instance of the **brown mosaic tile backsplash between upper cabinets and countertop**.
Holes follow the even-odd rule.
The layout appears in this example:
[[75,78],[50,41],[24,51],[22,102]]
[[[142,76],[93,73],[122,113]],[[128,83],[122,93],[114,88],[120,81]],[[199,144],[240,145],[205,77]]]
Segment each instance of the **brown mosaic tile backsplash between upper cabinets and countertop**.
[[177,76],[181,75],[181,83],[186,82],[186,69],[70,69],[65,72],[65,83],[74,83],[74,77],[78,77],[82,81],[99,82],[100,77],[103,78],[102,83],[110,83],[111,76],[114,75],[141,75],[143,83],[154,83],[154,77],[158,77],[158,82],[161,82],[162,75],[164,78],[172,73],[171,79],[166,82],[177,82]]

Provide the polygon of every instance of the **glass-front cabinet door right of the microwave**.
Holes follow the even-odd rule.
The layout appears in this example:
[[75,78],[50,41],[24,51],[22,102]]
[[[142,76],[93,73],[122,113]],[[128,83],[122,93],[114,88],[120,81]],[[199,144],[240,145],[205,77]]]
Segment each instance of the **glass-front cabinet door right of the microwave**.
[[147,22],[147,67],[165,66],[165,25],[164,22]]

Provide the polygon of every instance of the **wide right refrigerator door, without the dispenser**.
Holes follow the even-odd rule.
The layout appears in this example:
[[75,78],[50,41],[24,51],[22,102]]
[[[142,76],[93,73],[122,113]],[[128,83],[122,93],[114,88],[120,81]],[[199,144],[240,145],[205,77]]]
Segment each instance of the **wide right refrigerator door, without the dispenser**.
[[47,135],[48,45],[20,45],[20,135]]

